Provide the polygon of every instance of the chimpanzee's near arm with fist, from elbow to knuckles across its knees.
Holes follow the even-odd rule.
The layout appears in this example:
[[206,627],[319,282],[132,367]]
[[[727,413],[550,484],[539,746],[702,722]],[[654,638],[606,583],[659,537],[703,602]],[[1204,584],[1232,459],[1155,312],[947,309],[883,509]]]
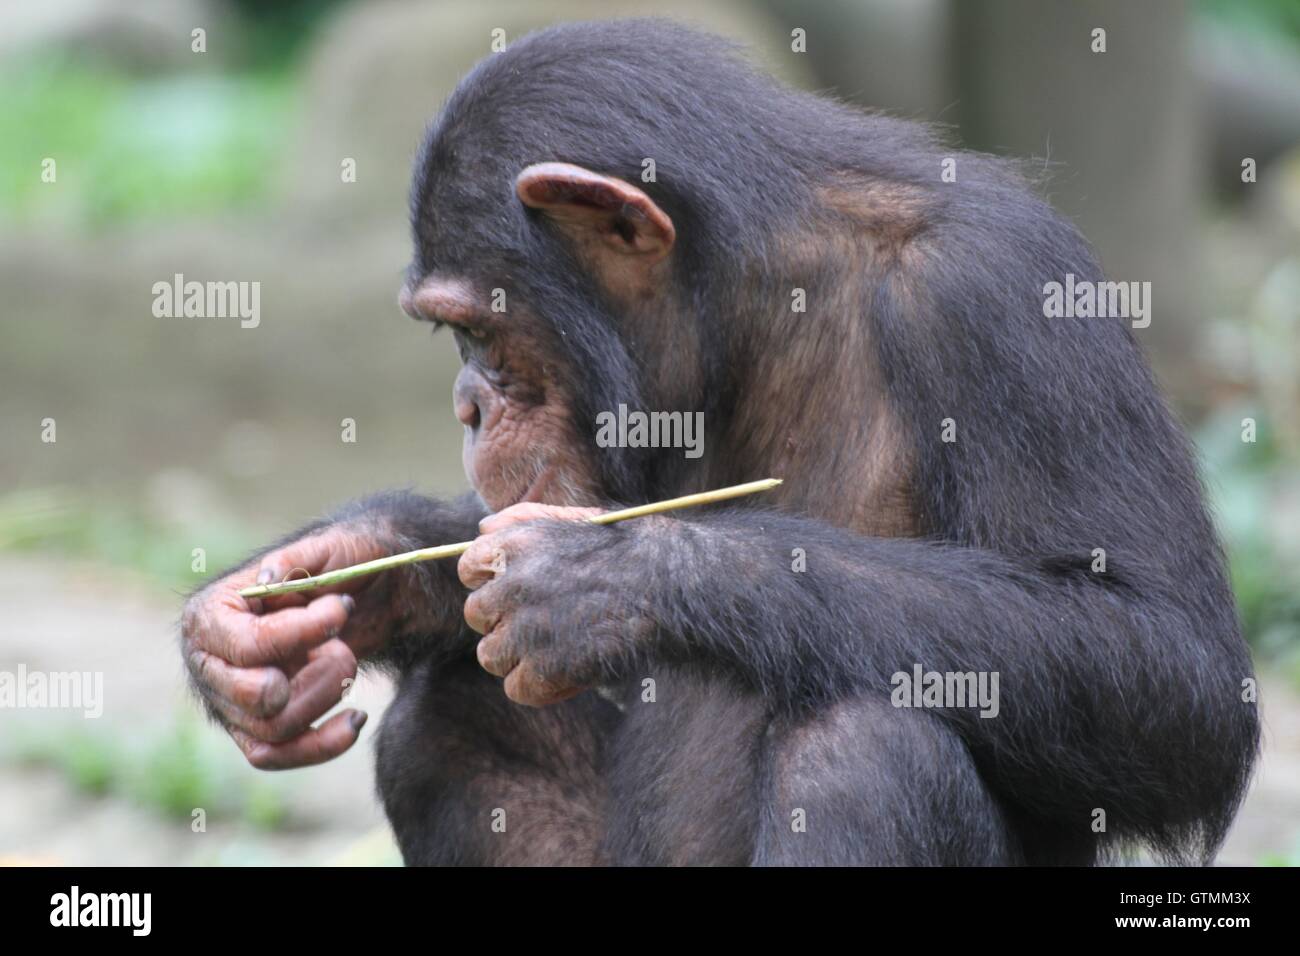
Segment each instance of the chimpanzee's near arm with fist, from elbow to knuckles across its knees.
[[1212,541],[1200,579],[1174,580],[1154,561],[1093,575],[1087,550],[1036,566],[751,510],[517,533],[484,541],[504,571],[467,606],[494,672],[519,661],[545,688],[690,665],[788,713],[890,695],[916,665],[997,672],[996,715],[937,713],[1000,795],[1044,817],[1101,806],[1157,840],[1231,814],[1249,767],[1251,666]]

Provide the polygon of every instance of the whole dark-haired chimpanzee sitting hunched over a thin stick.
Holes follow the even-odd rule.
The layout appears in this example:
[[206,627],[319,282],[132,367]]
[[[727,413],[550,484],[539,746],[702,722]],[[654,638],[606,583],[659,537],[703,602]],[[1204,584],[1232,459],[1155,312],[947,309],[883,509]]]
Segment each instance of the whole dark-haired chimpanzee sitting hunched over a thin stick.
[[[567,25],[459,86],[411,221],[476,493],[355,502],[190,600],[254,766],[351,747],[364,714],[312,722],[372,661],[408,864],[1213,857],[1258,737],[1223,557],[1126,321],[1045,317],[1101,273],[1013,164],[681,26]],[[703,454],[598,442],[620,406],[702,414]],[[900,693],[922,671],[996,706]]]

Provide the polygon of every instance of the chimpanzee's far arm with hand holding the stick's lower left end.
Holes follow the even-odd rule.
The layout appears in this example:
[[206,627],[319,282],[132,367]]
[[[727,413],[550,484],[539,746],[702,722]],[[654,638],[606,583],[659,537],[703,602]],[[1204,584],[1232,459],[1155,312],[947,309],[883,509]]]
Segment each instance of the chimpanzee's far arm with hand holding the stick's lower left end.
[[[339,702],[359,659],[406,667],[467,657],[465,592],[452,566],[419,564],[344,581],[326,593],[243,598],[283,580],[477,532],[474,499],[450,505],[386,493],[348,505],[205,584],[186,602],[181,653],[208,713],[248,762],[274,770],[332,760],[365,714]],[[304,600],[306,597],[306,600]],[[324,718],[324,719],[321,719]]]

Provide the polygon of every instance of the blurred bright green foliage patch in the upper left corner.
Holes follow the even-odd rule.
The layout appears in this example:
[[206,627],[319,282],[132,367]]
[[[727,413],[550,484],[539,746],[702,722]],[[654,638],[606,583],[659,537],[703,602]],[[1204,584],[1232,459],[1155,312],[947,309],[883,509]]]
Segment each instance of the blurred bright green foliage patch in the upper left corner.
[[[104,226],[254,203],[277,179],[291,90],[272,73],[152,79],[42,57],[6,64],[0,216]],[[57,190],[40,178],[46,157],[58,163]]]

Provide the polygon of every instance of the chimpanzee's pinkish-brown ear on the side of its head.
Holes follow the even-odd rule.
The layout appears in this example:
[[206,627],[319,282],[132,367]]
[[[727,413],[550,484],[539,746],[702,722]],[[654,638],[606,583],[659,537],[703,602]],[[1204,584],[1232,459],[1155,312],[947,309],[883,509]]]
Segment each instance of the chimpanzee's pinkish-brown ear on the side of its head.
[[571,163],[536,163],[515,179],[525,206],[590,229],[620,252],[659,259],[677,235],[668,213],[636,186]]

